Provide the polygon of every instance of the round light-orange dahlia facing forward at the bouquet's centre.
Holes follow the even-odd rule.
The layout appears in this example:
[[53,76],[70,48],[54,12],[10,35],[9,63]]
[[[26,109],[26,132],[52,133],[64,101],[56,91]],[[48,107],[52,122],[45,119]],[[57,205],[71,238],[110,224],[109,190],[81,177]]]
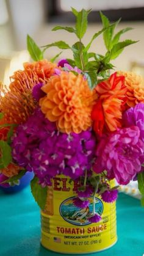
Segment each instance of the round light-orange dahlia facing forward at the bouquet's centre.
[[91,112],[96,94],[82,75],[62,71],[42,87],[41,111],[63,133],[81,133],[92,126]]

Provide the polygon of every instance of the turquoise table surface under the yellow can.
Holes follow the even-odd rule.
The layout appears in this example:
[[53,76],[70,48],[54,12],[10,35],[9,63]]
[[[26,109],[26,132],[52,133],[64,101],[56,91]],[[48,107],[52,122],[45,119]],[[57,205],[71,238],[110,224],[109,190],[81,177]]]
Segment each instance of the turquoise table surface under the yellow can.
[[[58,256],[40,245],[40,211],[30,189],[7,195],[0,191],[0,256]],[[118,242],[98,256],[144,254],[144,208],[124,194],[117,200]],[[89,254],[90,255],[90,254]]]

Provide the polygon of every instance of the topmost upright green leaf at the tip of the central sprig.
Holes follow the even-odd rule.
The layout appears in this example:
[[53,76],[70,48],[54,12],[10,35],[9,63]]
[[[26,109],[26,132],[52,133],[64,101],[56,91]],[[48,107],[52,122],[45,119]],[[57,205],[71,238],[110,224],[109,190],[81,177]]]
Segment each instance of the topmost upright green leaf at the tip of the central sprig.
[[87,31],[87,16],[90,11],[82,9],[76,16],[76,35],[79,39],[84,37]]

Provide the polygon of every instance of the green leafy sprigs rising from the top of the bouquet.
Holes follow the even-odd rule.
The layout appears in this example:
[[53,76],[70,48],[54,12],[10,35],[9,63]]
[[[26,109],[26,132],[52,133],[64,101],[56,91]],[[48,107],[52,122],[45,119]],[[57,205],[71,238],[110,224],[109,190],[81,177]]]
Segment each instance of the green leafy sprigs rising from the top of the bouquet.
[[[46,49],[51,48],[52,46],[56,46],[59,49],[71,49],[71,51],[73,51],[73,59],[67,59],[68,63],[72,67],[77,66],[79,69],[82,70],[82,74],[85,75],[85,77],[87,78],[90,89],[93,89],[93,87],[95,87],[99,82],[109,77],[110,70],[114,67],[110,63],[110,61],[118,57],[118,55],[123,51],[126,46],[136,42],[132,40],[124,40],[122,42],[119,42],[121,35],[130,31],[132,28],[126,27],[117,32],[117,34],[115,34],[115,28],[117,27],[118,23],[120,23],[120,20],[116,21],[113,24],[110,24],[110,21],[106,17],[106,15],[100,12],[103,27],[100,31],[95,32],[93,37],[90,39],[90,42],[85,46],[81,42],[81,39],[84,37],[85,32],[87,31],[88,14],[91,10],[82,9],[80,12],[78,12],[73,7],[71,8],[71,10],[76,17],[76,25],[74,27],[55,26],[52,31],[58,31],[63,29],[69,33],[73,33],[78,38],[77,42],[74,43],[74,45],[70,46],[67,42],[58,41],[49,45],[42,46],[43,51],[41,51],[39,48],[37,48],[38,46],[35,45],[34,40],[32,40],[32,38],[28,36],[30,41],[29,45],[34,46],[29,46],[31,49],[30,53],[32,51],[32,56],[32,54],[34,55],[35,51],[38,51],[38,56],[41,56],[41,53],[45,53]],[[101,34],[103,34],[104,43],[106,45],[106,54],[101,55],[92,52],[88,53],[93,41]],[[35,49],[35,51],[33,48]],[[57,54],[54,58],[51,59],[51,61],[54,62],[54,60],[56,60],[56,58],[59,57],[61,53]],[[73,71],[73,73],[77,75],[76,72]]]

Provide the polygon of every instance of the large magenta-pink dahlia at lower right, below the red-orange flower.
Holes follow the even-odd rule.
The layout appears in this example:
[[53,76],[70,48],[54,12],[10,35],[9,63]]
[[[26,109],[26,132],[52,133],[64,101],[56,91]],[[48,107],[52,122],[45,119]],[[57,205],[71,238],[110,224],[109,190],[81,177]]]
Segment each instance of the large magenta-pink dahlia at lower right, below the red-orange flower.
[[108,178],[116,178],[126,185],[141,170],[144,163],[144,142],[140,139],[137,126],[123,128],[103,136],[96,150],[93,170],[96,173],[107,170]]

